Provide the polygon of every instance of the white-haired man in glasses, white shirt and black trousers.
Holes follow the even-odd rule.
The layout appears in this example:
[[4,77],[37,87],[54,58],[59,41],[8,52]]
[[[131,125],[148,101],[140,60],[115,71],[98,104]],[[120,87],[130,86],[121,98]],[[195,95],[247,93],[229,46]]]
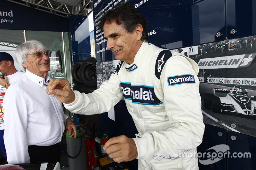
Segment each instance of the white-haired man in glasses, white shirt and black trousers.
[[9,164],[60,162],[65,124],[68,134],[76,137],[76,125],[64,114],[62,104],[45,93],[51,54],[39,41],[24,42],[15,50],[25,74],[9,86],[3,101]]

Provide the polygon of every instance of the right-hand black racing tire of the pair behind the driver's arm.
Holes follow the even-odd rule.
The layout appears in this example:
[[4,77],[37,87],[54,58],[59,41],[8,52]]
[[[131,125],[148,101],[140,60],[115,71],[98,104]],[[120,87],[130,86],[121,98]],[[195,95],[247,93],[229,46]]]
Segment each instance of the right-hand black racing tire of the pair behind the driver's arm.
[[90,57],[80,67],[81,81],[87,87],[97,87],[96,60]]

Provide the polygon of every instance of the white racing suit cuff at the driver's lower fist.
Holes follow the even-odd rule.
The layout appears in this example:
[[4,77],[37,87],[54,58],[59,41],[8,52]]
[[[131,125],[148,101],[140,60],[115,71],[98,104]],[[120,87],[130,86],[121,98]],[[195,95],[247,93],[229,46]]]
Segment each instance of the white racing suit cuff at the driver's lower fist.
[[142,158],[147,154],[147,149],[148,149],[148,139],[147,137],[140,137],[140,138],[132,138],[136,144],[137,147],[137,152],[138,152],[138,157]]

